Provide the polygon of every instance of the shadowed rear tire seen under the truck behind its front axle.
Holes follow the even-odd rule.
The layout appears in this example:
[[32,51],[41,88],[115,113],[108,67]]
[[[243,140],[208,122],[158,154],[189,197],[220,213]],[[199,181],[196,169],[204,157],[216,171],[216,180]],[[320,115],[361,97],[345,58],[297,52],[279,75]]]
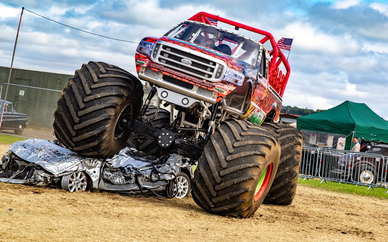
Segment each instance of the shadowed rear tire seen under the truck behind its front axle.
[[[146,114],[142,117],[142,121],[146,123],[147,120],[153,119],[151,124],[152,127],[165,128],[170,123],[170,112],[166,109],[159,108],[159,112],[155,118],[157,110],[158,107],[149,106],[146,111]],[[143,151],[148,155],[156,154],[158,151],[161,150],[161,147],[158,144],[149,139],[134,140],[132,136],[129,137],[127,145],[129,147],[136,148],[138,151]]]

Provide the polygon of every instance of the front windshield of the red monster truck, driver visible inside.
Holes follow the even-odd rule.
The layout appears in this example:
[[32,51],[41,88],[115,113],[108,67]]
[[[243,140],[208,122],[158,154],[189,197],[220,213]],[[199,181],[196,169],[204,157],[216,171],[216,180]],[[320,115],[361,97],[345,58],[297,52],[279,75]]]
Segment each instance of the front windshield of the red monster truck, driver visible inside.
[[259,45],[231,30],[183,22],[165,36],[214,49],[251,65],[258,61]]

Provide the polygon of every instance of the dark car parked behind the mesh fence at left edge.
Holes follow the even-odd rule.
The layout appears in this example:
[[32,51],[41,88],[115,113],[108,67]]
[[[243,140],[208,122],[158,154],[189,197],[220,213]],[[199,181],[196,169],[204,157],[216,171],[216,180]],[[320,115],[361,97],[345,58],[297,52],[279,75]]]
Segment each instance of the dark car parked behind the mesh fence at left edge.
[[[0,114],[3,110],[3,105],[4,100],[0,100]],[[12,102],[5,101],[0,130],[12,129],[16,135],[21,135],[27,126],[27,120],[27,114],[16,112]]]

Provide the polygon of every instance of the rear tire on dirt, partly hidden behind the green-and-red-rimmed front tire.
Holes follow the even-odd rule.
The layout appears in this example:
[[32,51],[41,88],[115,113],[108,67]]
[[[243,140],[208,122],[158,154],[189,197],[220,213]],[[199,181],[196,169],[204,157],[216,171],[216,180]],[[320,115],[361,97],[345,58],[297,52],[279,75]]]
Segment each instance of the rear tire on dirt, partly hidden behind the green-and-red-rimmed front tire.
[[264,203],[290,205],[295,196],[302,155],[302,135],[290,125],[263,123],[262,127],[274,132],[280,143],[280,162],[275,180]]

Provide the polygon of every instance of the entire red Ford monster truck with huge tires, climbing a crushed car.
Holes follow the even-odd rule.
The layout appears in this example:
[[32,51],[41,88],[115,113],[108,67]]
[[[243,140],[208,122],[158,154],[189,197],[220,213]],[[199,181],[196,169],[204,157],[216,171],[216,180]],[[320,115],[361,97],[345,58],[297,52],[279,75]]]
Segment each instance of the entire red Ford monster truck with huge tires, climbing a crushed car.
[[272,34],[201,12],[161,38],[144,38],[135,61],[152,86],[144,104],[140,80],[117,66],[91,61],[76,71],[54,114],[63,145],[98,158],[127,141],[150,155],[181,154],[198,164],[192,196],[211,213],[249,217],[263,202],[291,203],[302,137],[275,123],[290,66]]

